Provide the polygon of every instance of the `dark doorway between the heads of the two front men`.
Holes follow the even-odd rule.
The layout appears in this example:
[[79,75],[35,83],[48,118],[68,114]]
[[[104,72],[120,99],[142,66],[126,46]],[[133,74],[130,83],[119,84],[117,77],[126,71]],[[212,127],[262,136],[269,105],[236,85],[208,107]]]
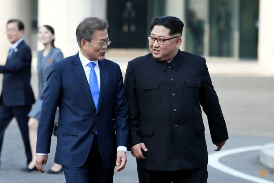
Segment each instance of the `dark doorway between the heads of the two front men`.
[[110,48],[146,48],[146,0],[107,1],[107,20]]

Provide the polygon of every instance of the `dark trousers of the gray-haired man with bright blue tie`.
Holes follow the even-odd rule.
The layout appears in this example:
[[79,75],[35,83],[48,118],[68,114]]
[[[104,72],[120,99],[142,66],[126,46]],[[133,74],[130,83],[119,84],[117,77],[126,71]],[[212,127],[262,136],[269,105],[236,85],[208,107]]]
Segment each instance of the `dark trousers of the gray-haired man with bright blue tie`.
[[67,183],[112,183],[114,167],[106,168],[98,148],[97,135],[94,135],[89,156],[82,167],[63,166]]

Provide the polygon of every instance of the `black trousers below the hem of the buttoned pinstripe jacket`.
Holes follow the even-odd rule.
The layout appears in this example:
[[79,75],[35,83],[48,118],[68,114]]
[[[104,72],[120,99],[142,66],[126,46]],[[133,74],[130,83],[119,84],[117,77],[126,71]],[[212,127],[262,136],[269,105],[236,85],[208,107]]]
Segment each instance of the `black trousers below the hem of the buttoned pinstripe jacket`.
[[137,165],[139,183],[206,183],[207,166],[191,170],[155,171]]

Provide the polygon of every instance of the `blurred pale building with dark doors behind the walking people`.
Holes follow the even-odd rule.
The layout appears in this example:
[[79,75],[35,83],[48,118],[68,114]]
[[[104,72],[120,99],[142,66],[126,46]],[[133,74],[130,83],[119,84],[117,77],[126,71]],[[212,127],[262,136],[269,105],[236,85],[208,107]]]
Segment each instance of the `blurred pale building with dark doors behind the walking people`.
[[75,31],[85,17],[109,21],[114,54],[125,48],[128,54],[142,54],[148,51],[151,20],[169,15],[185,24],[182,50],[274,75],[273,10],[273,0],[0,0],[0,62],[5,63],[9,50],[5,25],[11,18],[23,20],[25,40],[34,53],[42,48],[37,27],[49,24],[55,29],[55,45],[70,56],[79,50]]

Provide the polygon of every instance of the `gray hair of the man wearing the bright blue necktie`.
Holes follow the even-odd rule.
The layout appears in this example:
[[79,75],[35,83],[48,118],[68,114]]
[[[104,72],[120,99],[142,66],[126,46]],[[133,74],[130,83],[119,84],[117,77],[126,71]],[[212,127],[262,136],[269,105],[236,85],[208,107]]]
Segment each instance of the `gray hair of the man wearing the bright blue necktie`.
[[91,41],[95,30],[106,30],[108,22],[106,19],[97,17],[85,18],[76,28],[76,39],[79,47],[81,48],[81,40]]

